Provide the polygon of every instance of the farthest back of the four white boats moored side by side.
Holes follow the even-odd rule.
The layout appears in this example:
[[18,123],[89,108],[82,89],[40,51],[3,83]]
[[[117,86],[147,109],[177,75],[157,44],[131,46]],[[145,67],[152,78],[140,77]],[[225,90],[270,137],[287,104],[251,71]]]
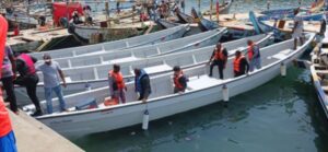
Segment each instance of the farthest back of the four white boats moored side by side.
[[[96,45],[57,49],[57,50],[51,50],[48,54],[51,56],[52,59],[56,59],[56,58],[78,57],[81,55],[86,56],[89,54],[95,54],[101,51],[118,51],[121,49],[139,47],[144,45],[153,45],[157,43],[172,40],[181,37],[188,30],[189,30],[188,25],[180,25],[177,27],[151,33],[148,35],[141,35],[141,36],[136,36],[136,37],[126,38],[121,40],[108,42],[108,43],[101,43]],[[34,52],[31,55],[37,59],[42,59],[44,54]]]

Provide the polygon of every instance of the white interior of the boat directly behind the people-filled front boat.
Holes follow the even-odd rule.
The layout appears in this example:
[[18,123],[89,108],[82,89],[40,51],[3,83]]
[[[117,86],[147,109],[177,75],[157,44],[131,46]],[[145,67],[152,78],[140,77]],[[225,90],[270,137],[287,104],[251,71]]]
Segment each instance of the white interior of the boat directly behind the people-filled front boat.
[[[246,50],[247,39],[257,42],[261,47],[266,46],[271,37],[268,35],[257,35],[234,42],[224,43],[223,46],[229,50],[230,56],[234,55],[236,49]],[[112,69],[114,63],[120,66],[120,71],[125,78],[133,77],[134,68],[143,68],[149,74],[155,74],[161,72],[167,72],[172,70],[174,66],[180,66],[181,68],[192,67],[209,61],[215,45],[203,47],[199,49],[168,54],[159,57],[152,57],[147,59],[136,60],[112,60],[108,63],[97,66],[84,66],[75,67],[71,69],[63,69],[66,80],[68,83],[74,82],[93,82],[99,80],[107,80],[108,71]],[[40,82],[43,82],[43,75],[39,73]],[[129,81],[129,80],[128,80]]]

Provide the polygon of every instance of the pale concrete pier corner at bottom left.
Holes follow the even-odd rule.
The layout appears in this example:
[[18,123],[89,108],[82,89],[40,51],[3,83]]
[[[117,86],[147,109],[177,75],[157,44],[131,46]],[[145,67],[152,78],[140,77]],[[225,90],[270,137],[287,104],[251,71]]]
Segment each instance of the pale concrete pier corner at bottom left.
[[27,116],[24,112],[10,112],[19,152],[83,152],[47,126]]

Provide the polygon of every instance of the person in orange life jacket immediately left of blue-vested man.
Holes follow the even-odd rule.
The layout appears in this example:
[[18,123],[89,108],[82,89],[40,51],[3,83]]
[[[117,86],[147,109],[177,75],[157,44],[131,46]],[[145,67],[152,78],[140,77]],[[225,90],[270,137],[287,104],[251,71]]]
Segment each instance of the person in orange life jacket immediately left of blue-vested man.
[[118,65],[114,65],[113,70],[108,72],[108,82],[112,98],[120,98],[121,103],[126,103],[127,86]]

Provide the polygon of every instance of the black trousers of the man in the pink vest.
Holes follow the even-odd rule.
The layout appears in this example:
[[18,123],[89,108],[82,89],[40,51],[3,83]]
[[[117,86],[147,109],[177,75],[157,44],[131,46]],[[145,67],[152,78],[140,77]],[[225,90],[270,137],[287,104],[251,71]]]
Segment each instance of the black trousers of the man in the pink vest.
[[16,84],[25,86],[27,95],[32,103],[35,105],[36,110],[40,110],[39,101],[36,96],[36,86],[38,83],[37,74],[26,75],[24,78],[19,78],[15,81]]

